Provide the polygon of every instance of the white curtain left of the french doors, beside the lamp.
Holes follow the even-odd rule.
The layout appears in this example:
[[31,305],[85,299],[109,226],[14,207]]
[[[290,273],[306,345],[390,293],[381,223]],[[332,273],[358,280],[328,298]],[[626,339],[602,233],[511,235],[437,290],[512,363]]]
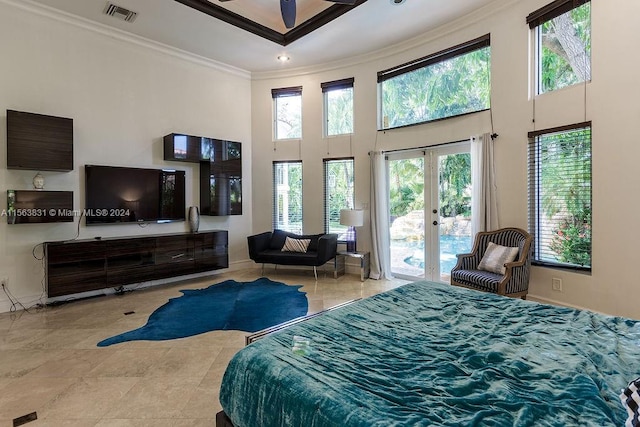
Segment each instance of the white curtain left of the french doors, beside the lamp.
[[389,195],[387,167],[382,151],[369,153],[371,163],[371,273],[372,279],[391,279]]

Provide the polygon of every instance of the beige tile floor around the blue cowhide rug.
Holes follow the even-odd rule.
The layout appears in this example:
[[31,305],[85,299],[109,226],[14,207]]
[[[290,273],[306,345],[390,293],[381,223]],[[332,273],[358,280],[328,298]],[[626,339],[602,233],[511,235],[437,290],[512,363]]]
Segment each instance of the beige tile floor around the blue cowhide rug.
[[[272,267],[265,275],[304,285],[309,313],[395,288],[402,280]],[[37,412],[35,426],[214,426],[218,391],[246,332],[213,331],[169,341],[96,343],[138,328],[180,289],[226,279],[249,281],[259,268],[226,272],[56,307],[0,314],[0,426]],[[134,311],[134,314],[124,315]]]

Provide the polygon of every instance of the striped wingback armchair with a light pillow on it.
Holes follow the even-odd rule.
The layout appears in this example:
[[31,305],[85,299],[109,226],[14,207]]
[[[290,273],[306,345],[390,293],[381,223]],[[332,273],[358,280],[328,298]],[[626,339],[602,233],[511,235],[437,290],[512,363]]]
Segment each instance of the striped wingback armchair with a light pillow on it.
[[[451,270],[451,284],[525,299],[529,290],[532,242],[533,237],[519,228],[478,233],[472,252],[457,255],[458,263]],[[487,253],[490,243],[492,248]],[[509,260],[508,252],[515,254],[515,259]]]

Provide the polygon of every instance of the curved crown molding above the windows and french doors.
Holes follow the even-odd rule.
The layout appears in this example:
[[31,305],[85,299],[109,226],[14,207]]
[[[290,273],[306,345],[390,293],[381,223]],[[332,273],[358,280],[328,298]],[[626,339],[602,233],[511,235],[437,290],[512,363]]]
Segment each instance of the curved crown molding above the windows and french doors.
[[[334,62],[324,63],[321,65],[291,68],[287,70],[256,71],[251,73],[251,79],[271,80],[280,78],[301,77],[340,70],[343,68],[353,67],[368,62],[385,59],[392,55],[398,55],[416,48],[423,47],[425,45],[433,43],[434,41],[437,41],[438,39],[442,39],[453,33],[459,32],[460,30],[469,27],[470,25],[474,25],[478,22],[489,19],[496,13],[512,7],[520,1],[521,0],[494,0],[486,6],[483,6],[480,9],[475,10],[467,15],[461,16],[460,18],[447,22],[446,24],[443,24],[437,28],[419,34],[411,39],[396,43],[394,45],[386,46],[374,52],[368,52],[362,55],[350,57],[348,59],[342,59]],[[487,29],[482,29],[480,31],[481,34],[486,34],[488,32],[489,31]]]

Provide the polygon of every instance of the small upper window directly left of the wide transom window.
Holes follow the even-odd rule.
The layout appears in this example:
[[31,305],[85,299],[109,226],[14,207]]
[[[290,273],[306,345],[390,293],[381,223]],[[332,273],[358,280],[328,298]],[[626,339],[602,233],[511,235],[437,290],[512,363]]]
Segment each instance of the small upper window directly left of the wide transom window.
[[353,78],[321,83],[324,98],[324,135],[353,133]]

